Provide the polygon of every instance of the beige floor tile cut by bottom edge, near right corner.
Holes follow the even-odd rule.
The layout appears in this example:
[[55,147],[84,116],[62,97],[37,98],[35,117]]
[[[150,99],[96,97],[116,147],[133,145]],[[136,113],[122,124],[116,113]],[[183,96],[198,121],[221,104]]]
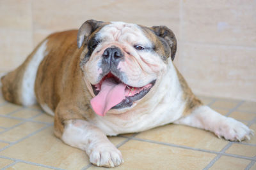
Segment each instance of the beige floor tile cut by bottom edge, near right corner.
[[246,159],[222,156],[210,169],[244,169],[250,162]]

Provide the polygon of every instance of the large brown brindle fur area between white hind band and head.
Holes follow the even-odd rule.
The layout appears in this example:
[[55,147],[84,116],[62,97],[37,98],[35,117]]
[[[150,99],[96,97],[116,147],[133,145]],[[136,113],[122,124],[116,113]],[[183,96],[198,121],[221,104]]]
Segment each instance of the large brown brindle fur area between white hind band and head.
[[35,92],[40,104],[54,111],[54,133],[61,138],[66,120],[93,116],[90,93],[79,67],[83,48],[76,45],[77,31],[50,35],[44,60],[38,67]]

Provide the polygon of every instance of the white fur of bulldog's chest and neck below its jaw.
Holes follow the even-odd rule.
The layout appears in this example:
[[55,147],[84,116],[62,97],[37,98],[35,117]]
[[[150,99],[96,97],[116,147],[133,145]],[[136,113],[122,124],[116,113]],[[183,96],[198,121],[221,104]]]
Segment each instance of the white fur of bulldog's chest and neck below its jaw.
[[134,108],[122,115],[109,113],[104,117],[95,115],[95,118],[89,121],[107,135],[113,136],[145,131],[178,120],[182,116],[186,103],[182,98],[183,92],[175,67],[170,60],[167,69],[168,72],[157,80],[159,81],[158,87],[151,89],[155,91],[150,90],[147,96],[143,97],[147,100],[145,103],[140,101]]

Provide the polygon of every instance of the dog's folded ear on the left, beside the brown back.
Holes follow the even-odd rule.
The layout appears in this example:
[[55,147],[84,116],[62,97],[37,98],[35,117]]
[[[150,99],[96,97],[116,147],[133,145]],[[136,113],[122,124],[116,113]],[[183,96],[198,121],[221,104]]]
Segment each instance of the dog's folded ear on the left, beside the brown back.
[[104,22],[97,21],[97,20],[87,20],[84,22],[83,25],[78,30],[77,33],[77,46],[78,48],[81,48],[83,45],[84,39],[90,36],[93,31],[95,31],[97,28],[104,25]]

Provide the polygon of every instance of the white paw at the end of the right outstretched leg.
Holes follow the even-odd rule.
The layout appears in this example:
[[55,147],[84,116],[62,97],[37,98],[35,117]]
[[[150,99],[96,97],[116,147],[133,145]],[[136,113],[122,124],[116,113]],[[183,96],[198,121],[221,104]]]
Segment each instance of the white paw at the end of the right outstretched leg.
[[250,140],[250,135],[253,135],[253,131],[246,125],[230,117],[219,122],[214,133],[219,138],[223,137],[230,141],[243,141],[244,139]]

